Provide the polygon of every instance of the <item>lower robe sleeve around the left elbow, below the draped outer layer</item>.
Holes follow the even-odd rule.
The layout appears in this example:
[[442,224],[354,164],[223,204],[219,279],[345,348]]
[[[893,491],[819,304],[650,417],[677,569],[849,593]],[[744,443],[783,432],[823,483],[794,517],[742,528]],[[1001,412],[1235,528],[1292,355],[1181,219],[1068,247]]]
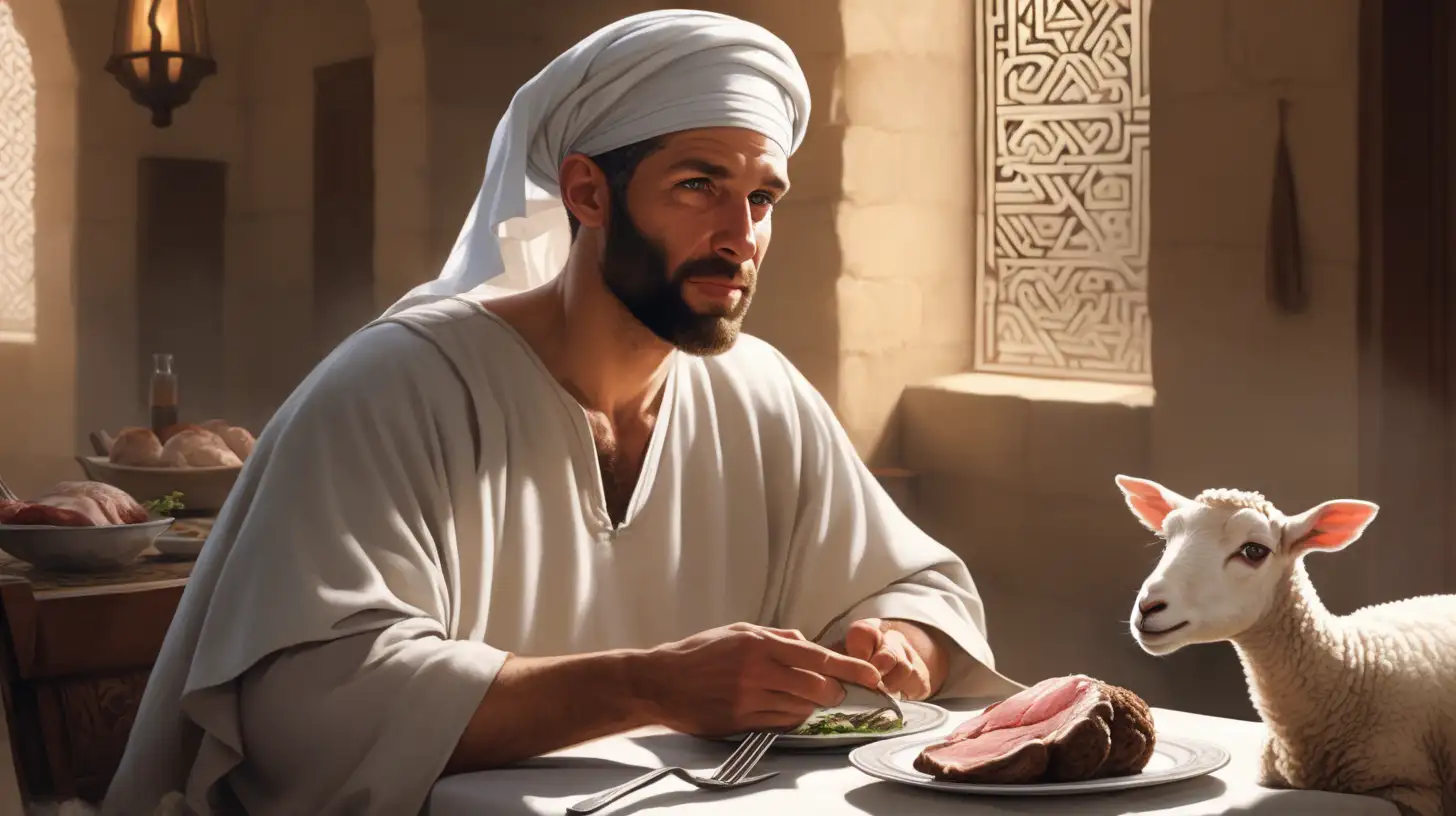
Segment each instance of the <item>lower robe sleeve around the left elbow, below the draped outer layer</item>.
[[400,621],[249,669],[232,796],[248,813],[419,812],[498,669],[485,644],[432,629]]

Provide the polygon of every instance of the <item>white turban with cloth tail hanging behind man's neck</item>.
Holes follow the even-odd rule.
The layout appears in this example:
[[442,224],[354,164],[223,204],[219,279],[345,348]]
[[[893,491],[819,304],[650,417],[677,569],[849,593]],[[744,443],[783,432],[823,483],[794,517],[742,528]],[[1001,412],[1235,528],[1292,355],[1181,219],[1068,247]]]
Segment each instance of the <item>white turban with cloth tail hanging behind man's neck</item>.
[[491,138],[485,181],[440,277],[389,313],[491,281],[520,291],[555,277],[571,233],[556,170],[702,127],[743,127],[792,154],[810,89],[789,47],[754,23],[692,10],[648,12],[587,36],[521,86]]

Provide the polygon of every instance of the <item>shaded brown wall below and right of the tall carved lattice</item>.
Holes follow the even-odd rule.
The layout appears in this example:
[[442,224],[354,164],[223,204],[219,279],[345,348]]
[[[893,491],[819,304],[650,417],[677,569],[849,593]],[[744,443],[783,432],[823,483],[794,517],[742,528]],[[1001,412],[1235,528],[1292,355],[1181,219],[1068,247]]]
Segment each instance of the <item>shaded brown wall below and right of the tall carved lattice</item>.
[[[1152,12],[1152,392],[1008,377],[911,388],[906,465],[927,529],[983,583],[1002,667],[1095,672],[1150,701],[1249,717],[1233,650],[1155,660],[1127,632],[1156,562],[1112,476],[1264,491],[1289,511],[1358,495],[1357,0],[1168,0]],[[1312,300],[1265,300],[1277,101],[1290,101]],[[1369,539],[1379,539],[1379,525]],[[1316,557],[1331,606],[1406,593],[1376,542]]]

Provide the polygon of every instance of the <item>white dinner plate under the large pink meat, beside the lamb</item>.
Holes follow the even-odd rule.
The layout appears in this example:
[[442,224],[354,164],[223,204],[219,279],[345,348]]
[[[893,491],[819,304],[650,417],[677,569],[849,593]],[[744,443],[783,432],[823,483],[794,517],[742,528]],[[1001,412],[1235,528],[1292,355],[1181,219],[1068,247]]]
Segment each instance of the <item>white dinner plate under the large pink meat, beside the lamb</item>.
[[849,764],[887,782],[974,796],[1067,796],[1146,788],[1203,777],[1229,764],[1229,752],[1219,745],[1182,734],[1159,733],[1147,766],[1143,768],[1142,774],[1130,777],[1026,785],[946,782],[914,769],[914,758],[919,756],[920,750],[942,739],[945,734],[936,737],[897,736],[862,745],[849,753]]

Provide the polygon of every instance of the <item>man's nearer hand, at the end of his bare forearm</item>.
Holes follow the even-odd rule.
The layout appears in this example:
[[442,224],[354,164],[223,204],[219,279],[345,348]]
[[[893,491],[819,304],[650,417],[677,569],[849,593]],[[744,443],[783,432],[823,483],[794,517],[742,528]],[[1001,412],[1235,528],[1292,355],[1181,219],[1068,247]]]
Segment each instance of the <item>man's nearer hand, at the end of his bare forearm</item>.
[[844,699],[840,682],[875,688],[879,672],[795,629],[731,624],[652,648],[638,672],[655,721],[690,734],[798,726]]

